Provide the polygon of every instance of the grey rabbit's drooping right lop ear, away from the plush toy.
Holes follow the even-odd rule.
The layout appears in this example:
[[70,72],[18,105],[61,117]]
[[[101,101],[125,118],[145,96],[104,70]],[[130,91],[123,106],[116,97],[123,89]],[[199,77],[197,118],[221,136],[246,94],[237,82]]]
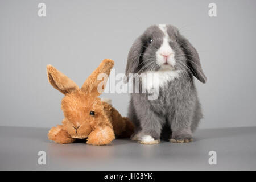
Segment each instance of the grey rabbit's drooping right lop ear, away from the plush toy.
[[207,81],[207,78],[204,75],[199,55],[195,47],[193,47],[192,44],[180,34],[178,35],[178,40],[181,47],[183,48],[185,56],[187,57],[187,64],[188,67],[191,69],[193,76],[195,76],[201,82],[205,83]]

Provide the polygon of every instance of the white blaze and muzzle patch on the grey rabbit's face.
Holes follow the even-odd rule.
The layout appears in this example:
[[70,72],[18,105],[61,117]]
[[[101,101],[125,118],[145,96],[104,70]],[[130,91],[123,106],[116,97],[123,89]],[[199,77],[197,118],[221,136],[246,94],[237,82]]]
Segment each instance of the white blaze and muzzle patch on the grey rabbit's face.
[[[175,52],[171,48],[169,41],[170,41],[170,36],[167,33],[167,27],[166,24],[159,24],[158,28],[164,33],[163,37],[163,42],[158,51],[156,51],[156,63],[159,65],[163,65],[164,63],[170,64],[172,67],[175,65]],[[167,58],[164,57],[168,56]],[[169,65],[169,67],[170,67]],[[168,65],[164,65],[164,67],[167,67]]]

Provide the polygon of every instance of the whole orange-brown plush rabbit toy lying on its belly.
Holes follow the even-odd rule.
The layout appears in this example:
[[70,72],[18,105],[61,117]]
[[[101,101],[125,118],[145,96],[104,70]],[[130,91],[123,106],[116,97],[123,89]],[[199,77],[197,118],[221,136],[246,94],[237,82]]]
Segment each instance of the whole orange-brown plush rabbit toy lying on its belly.
[[[47,65],[49,82],[65,95],[61,101],[65,118],[62,125],[49,130],[49,140],[55,143],[72,143],[76,139],[87,138],[88,144],[104,145],[110,144],[115,137],[130,137],[134,130],[133,123],[122,117],[108,102],[97,97],[103,92],[108,80],[98,80],[97,77],[100,73],[109,76],[113,65],[112,60],[103,60],[81,89],[52,65]],[[98,84],[102,84],[100,92]]]

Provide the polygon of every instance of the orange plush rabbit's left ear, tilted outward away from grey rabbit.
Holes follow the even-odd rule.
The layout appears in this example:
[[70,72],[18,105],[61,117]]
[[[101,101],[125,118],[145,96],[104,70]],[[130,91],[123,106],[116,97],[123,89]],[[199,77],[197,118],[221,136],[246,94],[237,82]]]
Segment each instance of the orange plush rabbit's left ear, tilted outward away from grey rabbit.
[[47,65],[47,76],[50,84],[63,94],[79,90],[79,87],[70,78],[58,71],[52,65]]

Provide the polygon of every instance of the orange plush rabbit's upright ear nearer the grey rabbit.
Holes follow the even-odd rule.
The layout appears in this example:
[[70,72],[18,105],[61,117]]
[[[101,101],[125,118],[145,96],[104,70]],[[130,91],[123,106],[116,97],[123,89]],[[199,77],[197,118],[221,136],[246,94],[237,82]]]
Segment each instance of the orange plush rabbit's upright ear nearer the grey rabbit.
[[[111,69],[113,68],[114,61],[110,59],[105,59],[101,62],[101,64],[96,68],[92,74],[87,78],[87,80],[84,82],[84,85],[82,85],[81,90],[85,93],[90,93],[93,96],[98,96],[104,91],[104,86],[106,85],[106,82],[108,81],[108,77],[110,74]],[[106,77],[100,77],[100,80],[98,80],[98,76],[104,73]],[[104,76],[104,75],[102,75]],[[103,81],[103,83],[100,85],[101,90],[98,90],[98,85]]]

